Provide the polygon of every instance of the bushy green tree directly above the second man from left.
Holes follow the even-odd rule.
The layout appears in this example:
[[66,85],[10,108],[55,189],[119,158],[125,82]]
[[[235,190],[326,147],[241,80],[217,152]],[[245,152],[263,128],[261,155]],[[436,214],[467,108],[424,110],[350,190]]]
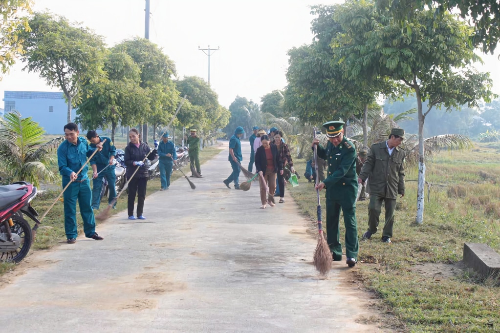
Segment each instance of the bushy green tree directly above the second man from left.
[[106,78],[83,86],[83,99],[76,120],[85,128],[133,125],[149,109],[149,97],[139,86],[139,66],[122,49],[113,47],[104,60]]

